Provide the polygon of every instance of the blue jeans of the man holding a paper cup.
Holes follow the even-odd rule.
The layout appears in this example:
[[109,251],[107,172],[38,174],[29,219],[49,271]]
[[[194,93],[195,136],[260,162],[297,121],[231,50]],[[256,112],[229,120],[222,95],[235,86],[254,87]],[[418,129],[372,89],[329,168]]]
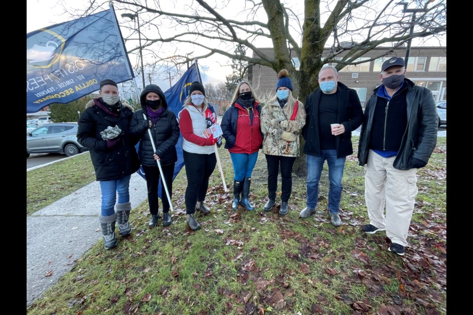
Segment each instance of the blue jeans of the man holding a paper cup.
[[320,150],[320,157],[307,155],[307,208],[315,209],[319,196],[319,181],[327,160],[329,166],[329,212],[338,212],[340,206],[341,178],[345,168],[345,157],[337,158],[337,150]]

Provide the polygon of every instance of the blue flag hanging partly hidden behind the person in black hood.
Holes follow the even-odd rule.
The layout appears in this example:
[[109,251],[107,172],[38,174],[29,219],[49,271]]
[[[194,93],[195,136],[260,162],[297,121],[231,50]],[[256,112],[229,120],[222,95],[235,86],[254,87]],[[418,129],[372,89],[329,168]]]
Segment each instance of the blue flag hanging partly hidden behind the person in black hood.
[[[192,64],[189,69],[187,69],[187,71],[184,73],[182,78],[164,93],[164,96],[166,97],[166,102],[168,103],[168,110],[172,111],[176,115],[176,117],[178,117],[179,112],[183,108],[184,100],[187,98],[187,96],[189,96],[189,89],[191,87],[191,84],[196,81],[202,83],[197,62]],[[138,150],[138,147],[139,143],[136,144],[136,150]],[[174,175],[172,176],[172,180],[176,178],[177,174],[184,166],[184,156],[182,155],[182,134],[179,135],[179,140],[176,144],[176,151],[177,162],[174,165]],[[142,167],[139,168],[138,174],[145,178]],[[166,198],[166,196],[161,196],[161,181],[159,182],[158,196],[161,199],[163,197]]]

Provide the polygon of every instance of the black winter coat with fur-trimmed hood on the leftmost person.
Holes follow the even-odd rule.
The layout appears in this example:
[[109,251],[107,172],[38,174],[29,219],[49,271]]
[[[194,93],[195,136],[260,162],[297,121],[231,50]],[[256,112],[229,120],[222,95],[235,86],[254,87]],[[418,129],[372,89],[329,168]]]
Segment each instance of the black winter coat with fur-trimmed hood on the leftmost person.
[[[95,104],[97,98],[86,105],[86,110],[80,115],[77,128],[77,141],[89,148],[90,158],[95,169],[97,181],[109,181],[135,173],[139,168],[135,144],[137,139],[130,135],[129,125],[133,110],[123,106],[120,116],[114,117]],[[123,132],[118,143],[113,148],[107,148],[100,132],[108,126],[118,125]]]

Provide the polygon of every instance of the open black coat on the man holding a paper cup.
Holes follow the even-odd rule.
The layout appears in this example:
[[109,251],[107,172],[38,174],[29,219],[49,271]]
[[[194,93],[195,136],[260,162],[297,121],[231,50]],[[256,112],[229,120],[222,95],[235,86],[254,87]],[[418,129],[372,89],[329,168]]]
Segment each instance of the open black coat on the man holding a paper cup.
[[[302,136],[305,139],[304,153],[312,156],[320,156],[319,142],[319,104],[322,95],[320,88],[305,98],[305,125]],[[337,158],[343,158],[353,153],[351,143],[351,132],[358,128],[363,122],[363,108],[356,91],[348,88],[341,82],[337,85],[338,114],[337,122],[345,127],[345,132],[335,136],[337,147]]]

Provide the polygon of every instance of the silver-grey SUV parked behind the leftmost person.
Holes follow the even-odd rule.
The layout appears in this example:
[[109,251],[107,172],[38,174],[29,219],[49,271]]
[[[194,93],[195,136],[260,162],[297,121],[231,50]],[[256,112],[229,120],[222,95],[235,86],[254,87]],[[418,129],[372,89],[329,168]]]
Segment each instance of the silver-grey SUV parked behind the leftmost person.
[[61,153],[68,157],[87,151],[77,142],[77,123],[39,126],[26,135],[26,157],[32,153]]

